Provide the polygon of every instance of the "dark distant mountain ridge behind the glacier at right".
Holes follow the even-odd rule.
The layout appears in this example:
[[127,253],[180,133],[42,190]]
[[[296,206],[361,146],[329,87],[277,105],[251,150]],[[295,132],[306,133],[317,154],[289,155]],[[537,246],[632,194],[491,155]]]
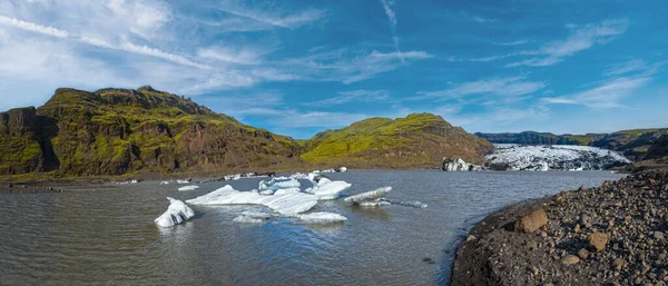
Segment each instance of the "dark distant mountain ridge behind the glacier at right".
[[549,132],[524,131],[519,134],[475,134],[494,144],[521,145],[583,145],[622,152],[638,161],[645,159],[649,148],[668,134],[668,128],[632,129],[612,134],[553,135]]

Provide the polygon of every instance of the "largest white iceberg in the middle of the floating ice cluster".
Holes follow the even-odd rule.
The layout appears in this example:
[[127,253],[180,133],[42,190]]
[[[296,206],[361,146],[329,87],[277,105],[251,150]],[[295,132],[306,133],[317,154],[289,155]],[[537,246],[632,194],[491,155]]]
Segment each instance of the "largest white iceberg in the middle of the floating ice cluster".
[[238,191],[227,185],[204,196],[187,200],[193,205],[263,205],[284,216],[310,210],[317,204],[317,196],[294,193],[263,196],[257,191]]

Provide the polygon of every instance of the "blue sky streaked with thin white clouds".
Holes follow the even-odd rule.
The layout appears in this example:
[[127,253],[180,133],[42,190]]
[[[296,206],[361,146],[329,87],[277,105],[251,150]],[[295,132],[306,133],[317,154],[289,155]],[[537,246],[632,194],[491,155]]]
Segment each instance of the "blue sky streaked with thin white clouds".
[[294,138],[668,127],[668,1],[0,0],[0,110],[155,89]]

